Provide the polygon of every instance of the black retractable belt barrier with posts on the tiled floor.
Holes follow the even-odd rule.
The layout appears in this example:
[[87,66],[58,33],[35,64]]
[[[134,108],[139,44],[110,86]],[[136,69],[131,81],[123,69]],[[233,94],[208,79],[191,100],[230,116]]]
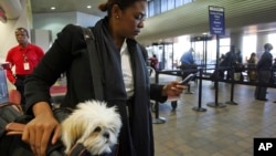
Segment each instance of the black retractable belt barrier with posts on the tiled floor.
[[[213,105],[210,106],[214,106],[214,107],[224,107],[224,106],[220,106],[219,102],[217,102],[217,93],[219,93],[219,87],[217,87],[217,82],[225,82],[225,83],[231,83],[231,98],[229,102],[226,102],[226,104],[233,104],[233,105],[237,105],[237,103],[234,102],[234,86],[235,84],[242,84],[242,85],[254,85],[254,86],[266,86],[266,87],[274,87],[276,89],[276,83],[269,83],[269,84],[262,84],[258,83],[257,81],[236,81],[234,79],[234,73],[235,73],[235,66],[219,66],[219,67],[210,67],[206,69],[206,64],[204,65],[197,65],[197,69],[185,69],[185,70],[164,70],[164,71],[156,71],[156,83],[159,83],[159,75],[160,74],[166,74],[166,75],[176,75],[176,76],[183,76],[187,73],[195,73],[195,80],[199,80],[199,102],[198,102],[198,106],[193,107],[194,111],[199,111],[199,112],[205,112],[206,110],[202,107],[202,80],[206,80],[206,81],[213,81],[215,82],[216,86],[215,86],[215,102]],[[252,67],[244,67],[243,71],[248,71],[248,70],[254,70]],[[230,80],[225,80],[224,77],[211,77],[211,76],[205,76],[205,75],[212,75],[212,74],[208,74],[204,71],[214,71],[214,72],[220,72],[220,71],[231,71],[231,79]],[[240,71],[241,72],[241,71]],[[276,73],[276,70],[272,70],[272,73]],[[274,76],[274,74],[272,75]],[[176,102],[172,102],[172,106],[176,107],[177,105],[177,101],[178,98],[176,98]],[[155,113],[156,113],[156,118],[153,121],[155,124],[161,124],[164,123],[164,119],[162,117],[159,116],[159,103],[156,101],[155,104]]]

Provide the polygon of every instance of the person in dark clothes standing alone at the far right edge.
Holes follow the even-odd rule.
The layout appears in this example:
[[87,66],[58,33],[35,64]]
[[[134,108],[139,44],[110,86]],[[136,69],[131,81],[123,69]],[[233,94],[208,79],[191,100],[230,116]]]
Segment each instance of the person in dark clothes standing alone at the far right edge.
[[264,45],[265,52],[262,54],[256,70],[257,70],[257,86],[255,89],[255,98],[259,101],[268,101],[266,98],[267,85],[272,77],[273,55],[270,51],[273,45],[266,43]]

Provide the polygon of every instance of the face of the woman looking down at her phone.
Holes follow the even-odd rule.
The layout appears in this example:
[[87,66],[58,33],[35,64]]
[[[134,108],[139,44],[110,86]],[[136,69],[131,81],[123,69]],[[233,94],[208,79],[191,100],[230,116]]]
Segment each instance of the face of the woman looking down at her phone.
[[140,33],[144,28],[146,17],[146,1],[137,1],[125,10],[121,10],[119,15],[119,34],[125,38],[134,39]]

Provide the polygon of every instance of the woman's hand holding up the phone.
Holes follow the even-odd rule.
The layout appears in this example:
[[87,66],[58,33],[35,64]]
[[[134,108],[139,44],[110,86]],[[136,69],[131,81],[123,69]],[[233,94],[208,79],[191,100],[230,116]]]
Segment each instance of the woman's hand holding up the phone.
[[163,86],[162,96],[179,96],[185,89],[180,82],[172,81]]

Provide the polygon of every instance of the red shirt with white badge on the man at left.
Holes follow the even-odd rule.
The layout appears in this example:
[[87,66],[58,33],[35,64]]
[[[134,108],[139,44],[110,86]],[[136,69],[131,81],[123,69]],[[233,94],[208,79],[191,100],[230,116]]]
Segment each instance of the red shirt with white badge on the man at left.
[[[17,45],[12,48],[6,58],[6,62],[10,63],[7,69],[7,77],[11,83],[15,82],[15,74],[28,75],[39,64],[43,58],[43,50],[34,44],[29,43],[25,48]],[[15,73],[12,73],[12,67],[15,66]]]

